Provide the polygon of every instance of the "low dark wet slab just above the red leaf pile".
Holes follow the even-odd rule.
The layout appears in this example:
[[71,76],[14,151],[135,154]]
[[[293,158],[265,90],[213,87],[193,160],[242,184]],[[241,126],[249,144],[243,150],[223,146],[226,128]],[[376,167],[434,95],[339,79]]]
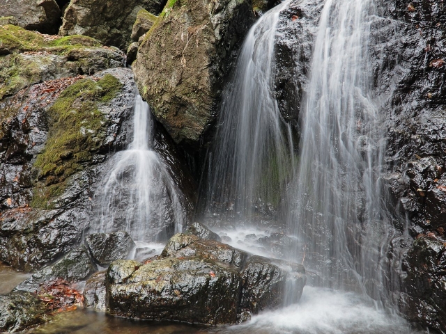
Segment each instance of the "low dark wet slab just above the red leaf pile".
[[14,291],[38,292],[42,283],[57,278],[63,278],[69,282],[79,282],[88,278],[95,270],[96,267],[91,262],[88,250],[85,246],[79,246],[55,264],[33,273],[30,278],[17,285]]

